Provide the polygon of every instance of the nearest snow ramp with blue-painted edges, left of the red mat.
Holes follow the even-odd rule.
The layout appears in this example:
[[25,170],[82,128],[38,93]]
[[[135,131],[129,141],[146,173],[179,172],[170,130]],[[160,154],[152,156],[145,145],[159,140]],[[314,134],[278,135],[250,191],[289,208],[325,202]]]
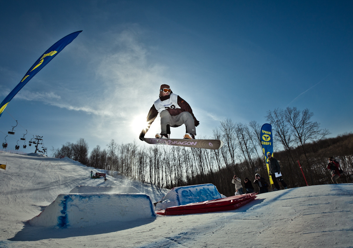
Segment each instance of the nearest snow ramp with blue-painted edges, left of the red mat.
[[60,194],[38,216],[32,226],[78,228],[109,221],[156,218],[151,198],[142,193]]

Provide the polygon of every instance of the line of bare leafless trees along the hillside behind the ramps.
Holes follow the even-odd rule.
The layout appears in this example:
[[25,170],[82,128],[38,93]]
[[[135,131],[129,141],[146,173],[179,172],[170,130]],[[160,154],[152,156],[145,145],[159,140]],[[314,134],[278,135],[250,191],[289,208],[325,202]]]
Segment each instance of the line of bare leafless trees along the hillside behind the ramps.
[[[268,111],[266,120],[272,125],[274,157],[281,165],[282,177],[289,187],[330,184],[326,168],[328,157],[334,156],[344,171],[342,182],[352,182],[353,134],[325,138],[330,132],[312,120],[309,109],[296,107]],[[226,196],[234,194],[234,175],[251,181],[255,173],[268,179],[261,147],[261,125],[226,119],[213,130],[211,137],[222,140],[218,150],[186,148],[172,145],[138,145],[136,142],[118,144],[112,139],[102,149],[97,145],[89,154],[83,138],[67,142],[54,156],[67,156],[90,167],[119,171],[158,187],[173,188],[195,184],[214,184]],[[303,169],[303,173],[299,165]],[[304,174],[304,176],[303,176]]]

